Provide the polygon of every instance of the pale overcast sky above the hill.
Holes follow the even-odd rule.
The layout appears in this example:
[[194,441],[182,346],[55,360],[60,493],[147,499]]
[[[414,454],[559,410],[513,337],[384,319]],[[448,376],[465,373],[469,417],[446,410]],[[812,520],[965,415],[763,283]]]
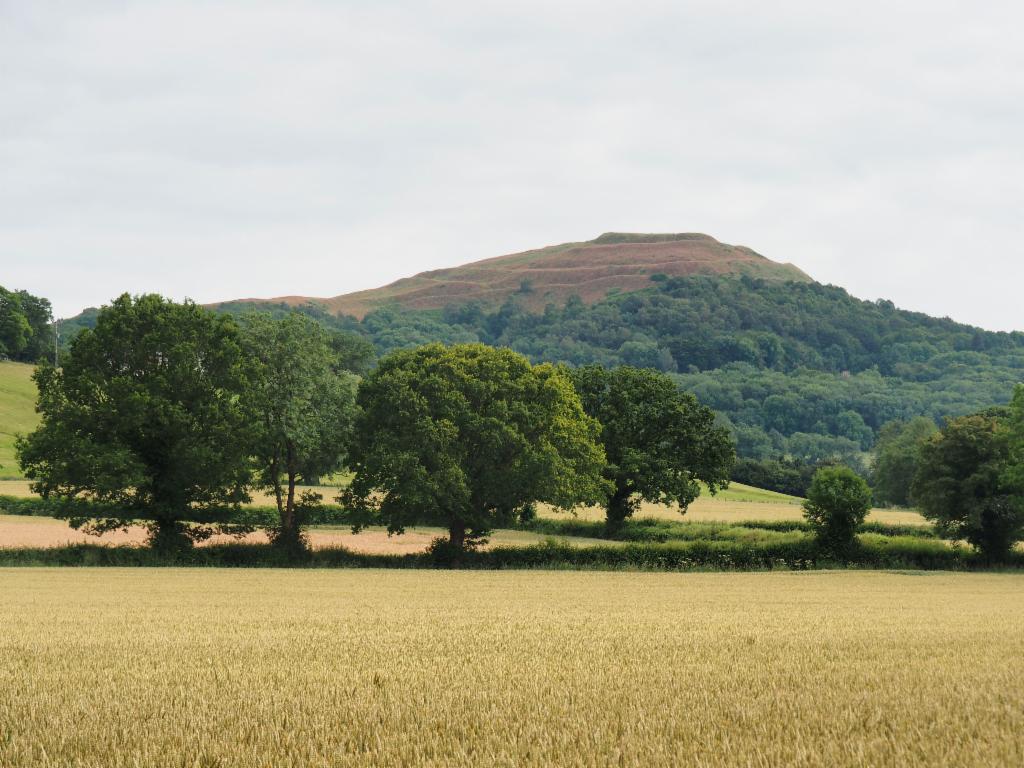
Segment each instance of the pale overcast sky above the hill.
[[0,0],[0,285],[335,296],[699,231],[1024,330],[1024,5]]

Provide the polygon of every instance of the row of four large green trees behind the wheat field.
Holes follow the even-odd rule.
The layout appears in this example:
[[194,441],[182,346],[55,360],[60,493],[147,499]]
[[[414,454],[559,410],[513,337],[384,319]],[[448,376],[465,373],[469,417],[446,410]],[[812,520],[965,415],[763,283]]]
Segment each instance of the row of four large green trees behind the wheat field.
[[42,421],[18,460],[73,525],[144,520],[165,550],[265,490],[272,543],[301,554],[323,499],[298,487],[341,467],[357,528],[440,524],[454,556],[537,504],[599,504],[614,529],[641,500],[685,509],[701,483],[728,483],[728,431],[657,372],[534,365],[478,343],[397,350],[367,372],[358,351],[302,313],[237,321],[123,295],[59,369],[37,370]]

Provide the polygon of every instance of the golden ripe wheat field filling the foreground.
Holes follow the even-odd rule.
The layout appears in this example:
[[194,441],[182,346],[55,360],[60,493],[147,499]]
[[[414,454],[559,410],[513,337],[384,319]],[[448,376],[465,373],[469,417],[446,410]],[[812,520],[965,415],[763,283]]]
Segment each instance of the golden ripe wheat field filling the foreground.
[[0,570],[0,765],[1024,764],[1024,578]]

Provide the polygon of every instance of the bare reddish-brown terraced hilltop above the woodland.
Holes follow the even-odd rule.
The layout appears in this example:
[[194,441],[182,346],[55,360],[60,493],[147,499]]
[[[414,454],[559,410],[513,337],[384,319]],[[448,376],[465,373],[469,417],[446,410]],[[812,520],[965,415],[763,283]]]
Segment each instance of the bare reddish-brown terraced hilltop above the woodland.
[[543,310],[549,303],[564,304],[570,296],[594,303],[609,293],[638,291],[648,287],[654,274],[745,274],[773,281],[811,281],[792,264],[779,264],[750,248],[720,243],[707,234],[607,232],[586,243],[564,243],[421,272],[383,288],[334,298],[285,296],[240,301],[293,306],[313,303],[333,314],[357,318],[383,306],[441,309],[453,303],[476,302],[497,308],[510,296],[517,296],[524,308]]

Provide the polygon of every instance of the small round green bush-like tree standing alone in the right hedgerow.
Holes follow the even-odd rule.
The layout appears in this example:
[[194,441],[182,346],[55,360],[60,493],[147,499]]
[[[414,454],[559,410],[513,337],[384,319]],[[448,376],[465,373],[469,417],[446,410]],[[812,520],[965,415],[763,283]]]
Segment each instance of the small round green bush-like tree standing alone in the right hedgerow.
[[824,467],[814,473],[804,502],[804,517],[824,552],[849,556],[856,532],[871,510],[871,489],[849,467]]

